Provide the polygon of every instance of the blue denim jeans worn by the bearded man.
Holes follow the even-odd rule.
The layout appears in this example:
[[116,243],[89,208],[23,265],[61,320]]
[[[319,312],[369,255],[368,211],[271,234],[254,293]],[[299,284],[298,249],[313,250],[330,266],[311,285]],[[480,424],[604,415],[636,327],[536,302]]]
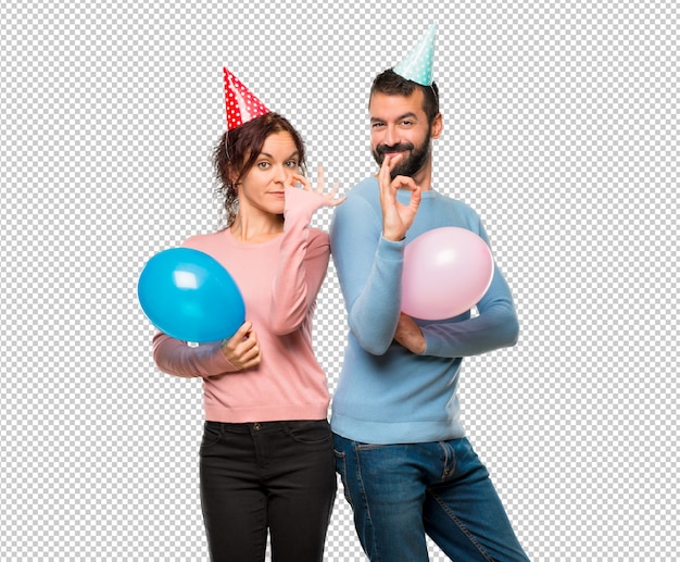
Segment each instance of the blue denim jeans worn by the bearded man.
[[427,561],[426,534],[454,561],[528,562],[467,439],[368,445],[333,435],[333,446],[372,562]]

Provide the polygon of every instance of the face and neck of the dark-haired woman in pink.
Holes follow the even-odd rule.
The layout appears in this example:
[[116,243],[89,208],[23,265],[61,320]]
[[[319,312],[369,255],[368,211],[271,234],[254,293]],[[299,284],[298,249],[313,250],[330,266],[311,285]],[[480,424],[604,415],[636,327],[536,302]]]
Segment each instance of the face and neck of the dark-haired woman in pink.
[[300,170],[300,155],[289,133],[269,135],[255,163],[238,186],[241,213],[284,213],[285,189]]

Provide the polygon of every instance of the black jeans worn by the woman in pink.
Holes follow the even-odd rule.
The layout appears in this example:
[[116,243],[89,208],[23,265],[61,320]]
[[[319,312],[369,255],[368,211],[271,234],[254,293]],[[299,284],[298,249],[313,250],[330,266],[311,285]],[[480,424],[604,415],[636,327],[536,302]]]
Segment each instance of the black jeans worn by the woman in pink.
[[326,420],[205,422],[201,503],[213,562],[320,562],[336,497]]

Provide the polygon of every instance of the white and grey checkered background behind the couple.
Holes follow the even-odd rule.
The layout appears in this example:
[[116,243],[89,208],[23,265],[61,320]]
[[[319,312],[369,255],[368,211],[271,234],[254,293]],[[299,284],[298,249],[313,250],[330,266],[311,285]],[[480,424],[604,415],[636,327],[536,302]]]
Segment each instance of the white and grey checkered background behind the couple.
[[[675,2],[306,4],[0,8],[0,558],[207,559],[200,382],[154,367],[136,282],[221,225],[222,65],[348,190],[373,76],[437,21],[436,188],[481,215],[521,325],[464,363],[470,440],[533,561],[677,560]],[[344,337],[331,267],[331,390]],[[365,560],[341,491],[327,560]]]

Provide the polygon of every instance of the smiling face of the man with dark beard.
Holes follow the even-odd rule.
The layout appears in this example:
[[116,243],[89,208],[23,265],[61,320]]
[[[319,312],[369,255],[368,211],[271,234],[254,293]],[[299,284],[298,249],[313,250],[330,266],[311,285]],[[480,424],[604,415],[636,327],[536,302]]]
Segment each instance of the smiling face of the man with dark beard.
[[392,178],[415,176],[431,153],[431,128],[423,110],[423,92],[417,89],[408,97],[374,93],[368,112],[370,151],[378,165],[386,154],[403,153],[392,168]]

